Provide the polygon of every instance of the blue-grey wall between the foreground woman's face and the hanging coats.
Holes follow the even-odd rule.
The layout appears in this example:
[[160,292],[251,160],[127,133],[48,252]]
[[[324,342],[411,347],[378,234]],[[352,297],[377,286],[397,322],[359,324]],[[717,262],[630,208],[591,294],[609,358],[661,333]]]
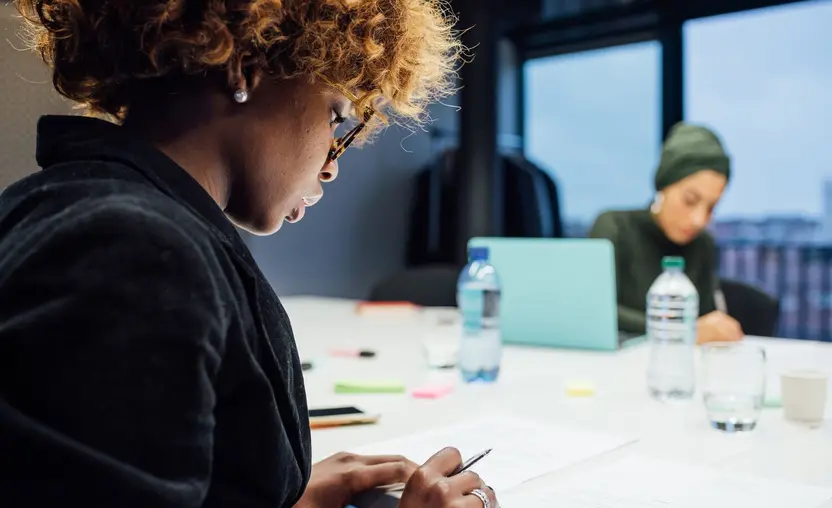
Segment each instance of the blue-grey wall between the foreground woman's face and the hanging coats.
[[[437,105],[431,115],[435,127],[456,131],[456,108]],[[432,156],[427,133],[408,135],[391,127],[375,144],[348,149],[338,179],[302,221],[247,238],[278,295],[363,298],[403,268],[413,178]]]

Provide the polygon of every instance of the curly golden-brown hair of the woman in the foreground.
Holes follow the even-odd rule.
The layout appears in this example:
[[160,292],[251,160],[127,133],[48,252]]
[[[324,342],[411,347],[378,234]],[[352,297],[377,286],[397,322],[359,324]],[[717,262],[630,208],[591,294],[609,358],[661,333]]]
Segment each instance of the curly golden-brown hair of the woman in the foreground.
[[455,91],[463,52],[444,0],[13,1],[55,89],[116,121],[152,82],[217,74],[234,87],[257,69],[320,79],[421,123]]

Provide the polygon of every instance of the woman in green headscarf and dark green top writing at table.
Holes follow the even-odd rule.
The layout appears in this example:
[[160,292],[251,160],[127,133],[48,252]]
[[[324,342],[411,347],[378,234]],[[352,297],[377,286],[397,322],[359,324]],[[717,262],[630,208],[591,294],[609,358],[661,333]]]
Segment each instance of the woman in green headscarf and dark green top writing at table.
[[742,338],[739,323],[718,310],[716,247],[705,230],[731,176],[719,138],[698,125],[676,124],[662,148],[656,195],[649,209],[601,214],[589,233],[615,247],[618,326],[644,333],[650,285],[664,256],[685,259],[685,274],[699,292],[698,342]]

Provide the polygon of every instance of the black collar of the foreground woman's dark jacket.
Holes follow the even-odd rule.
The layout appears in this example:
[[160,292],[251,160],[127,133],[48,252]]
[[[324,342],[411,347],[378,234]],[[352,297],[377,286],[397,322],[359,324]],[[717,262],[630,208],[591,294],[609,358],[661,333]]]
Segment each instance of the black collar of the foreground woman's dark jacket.
[[36,158],[42,168],[82,160],[113,161],[129,166],[160,191],[204,218],[232,246],[242,247],[248,253],[234,225],[187,171],[152,144],[128,135],[118,125],[77,116],[41,117]]

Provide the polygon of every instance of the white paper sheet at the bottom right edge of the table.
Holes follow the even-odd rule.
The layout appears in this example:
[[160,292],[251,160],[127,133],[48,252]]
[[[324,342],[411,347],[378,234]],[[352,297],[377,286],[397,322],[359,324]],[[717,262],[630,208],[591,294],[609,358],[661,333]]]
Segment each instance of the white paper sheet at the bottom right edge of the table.
[[587,470],[562,484],[503,496],[503,508],[820,508],[832,489],[646,457]]

